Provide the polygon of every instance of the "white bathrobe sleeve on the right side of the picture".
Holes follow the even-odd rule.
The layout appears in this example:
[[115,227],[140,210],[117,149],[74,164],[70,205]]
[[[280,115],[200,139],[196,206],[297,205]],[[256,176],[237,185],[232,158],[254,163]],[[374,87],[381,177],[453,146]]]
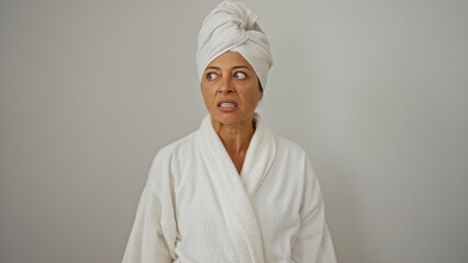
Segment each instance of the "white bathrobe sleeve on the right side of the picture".
[[336,263],[335,251],[325,221],[319,180],[308,157],[304,160],[305,185],[300,210],[301,225],[292,248],[294,262]]

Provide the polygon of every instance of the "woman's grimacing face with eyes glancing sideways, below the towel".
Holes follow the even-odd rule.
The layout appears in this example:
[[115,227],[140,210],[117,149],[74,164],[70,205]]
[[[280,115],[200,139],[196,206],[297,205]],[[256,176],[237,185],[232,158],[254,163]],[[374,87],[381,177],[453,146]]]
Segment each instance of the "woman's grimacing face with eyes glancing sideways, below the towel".
[[213,122],[225,125],[252,125],[263,95],[254,68],[234,52],[220,55],[207,66],[201,91]]

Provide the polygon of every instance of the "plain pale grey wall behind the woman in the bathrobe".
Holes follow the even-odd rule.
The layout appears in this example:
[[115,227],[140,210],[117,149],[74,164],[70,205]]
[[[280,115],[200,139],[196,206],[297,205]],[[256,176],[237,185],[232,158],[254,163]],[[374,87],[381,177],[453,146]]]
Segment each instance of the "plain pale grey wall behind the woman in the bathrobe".
[[[468,262],[468,1],[246,1],[342,263]],[[120,262],[218,1],[0,1],[0,262]]]

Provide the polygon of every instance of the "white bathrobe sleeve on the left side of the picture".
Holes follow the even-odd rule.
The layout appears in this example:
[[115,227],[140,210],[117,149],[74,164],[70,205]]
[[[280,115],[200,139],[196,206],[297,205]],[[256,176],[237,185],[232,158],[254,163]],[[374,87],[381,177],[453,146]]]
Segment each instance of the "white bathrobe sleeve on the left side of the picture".
[[[123,256],[123,263],[167,263],[174,261],[174,218],[171,198],[164,179],[168,163],[156,156],[148,181],[140,198],[135,221]],[[166,176],[167,178],[167,176]],[[159,186],[159,187],[157,187]]]

